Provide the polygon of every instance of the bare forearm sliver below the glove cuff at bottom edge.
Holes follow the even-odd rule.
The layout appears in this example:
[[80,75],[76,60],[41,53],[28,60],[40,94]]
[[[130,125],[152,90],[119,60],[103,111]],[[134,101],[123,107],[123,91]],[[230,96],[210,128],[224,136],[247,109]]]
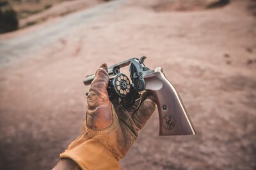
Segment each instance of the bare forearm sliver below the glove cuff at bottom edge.
[[52,170],[81,170],[81,168],[72,159],[61,159]]

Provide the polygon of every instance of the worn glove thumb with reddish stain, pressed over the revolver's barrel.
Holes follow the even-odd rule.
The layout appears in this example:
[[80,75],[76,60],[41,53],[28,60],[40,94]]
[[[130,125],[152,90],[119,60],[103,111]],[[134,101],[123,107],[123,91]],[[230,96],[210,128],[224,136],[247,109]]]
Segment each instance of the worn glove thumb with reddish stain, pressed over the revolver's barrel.
[[91,129],[104,129],[112,122],[111,103],[108,97],[108,66],[102,64],[95,73],[87,97],[86,124]]

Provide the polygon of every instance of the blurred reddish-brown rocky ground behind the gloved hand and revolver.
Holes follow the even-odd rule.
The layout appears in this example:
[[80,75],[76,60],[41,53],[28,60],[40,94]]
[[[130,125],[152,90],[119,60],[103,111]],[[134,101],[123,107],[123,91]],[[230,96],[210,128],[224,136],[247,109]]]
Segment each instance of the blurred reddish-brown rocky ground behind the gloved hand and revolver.
[[163,67],[197,134],[158,136],[156,111],[122,169],[256,169],[255,0],[0,0],[0,8],[0,169],[51,169],[81,132],[84,77],[143,55],[147,67]]

